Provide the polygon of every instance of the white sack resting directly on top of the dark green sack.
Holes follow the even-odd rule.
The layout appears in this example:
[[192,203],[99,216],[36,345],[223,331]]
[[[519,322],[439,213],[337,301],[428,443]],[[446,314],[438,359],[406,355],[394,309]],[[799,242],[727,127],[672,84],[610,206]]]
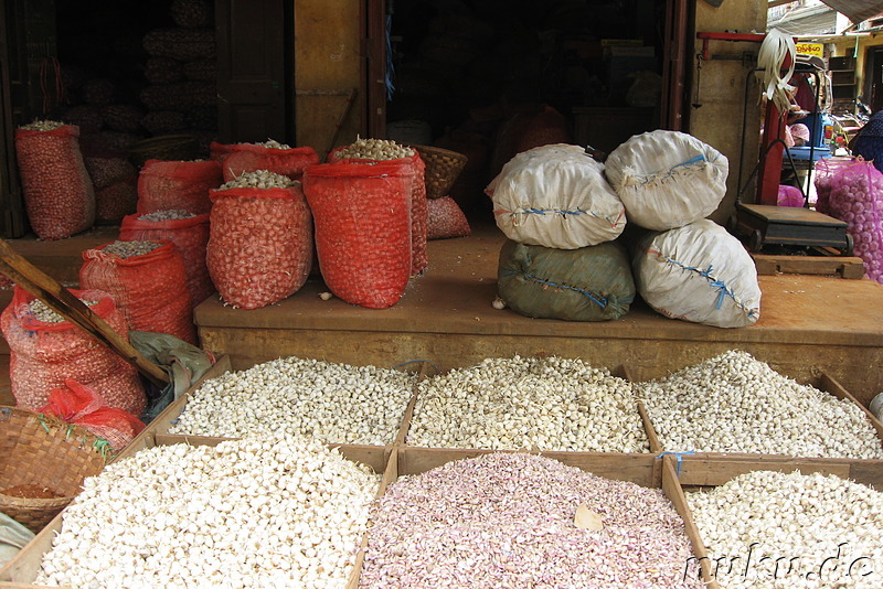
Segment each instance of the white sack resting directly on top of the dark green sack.
[[584,148],[554,143],[522,151],[497,174],[486,194],[497,226],[513,242],[556,249],[613,242],[626,226],[604,164]]

